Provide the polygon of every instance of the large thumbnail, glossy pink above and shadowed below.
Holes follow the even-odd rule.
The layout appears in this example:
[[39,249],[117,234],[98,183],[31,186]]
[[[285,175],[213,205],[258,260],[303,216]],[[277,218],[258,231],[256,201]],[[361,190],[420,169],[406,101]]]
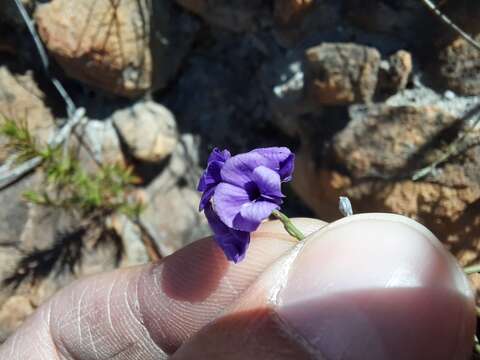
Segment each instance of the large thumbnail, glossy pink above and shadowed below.
[[462,270],[426,228],[362,214],[308,240],[277,311],[324,358],[413,360],[466,358],[473,309]]

